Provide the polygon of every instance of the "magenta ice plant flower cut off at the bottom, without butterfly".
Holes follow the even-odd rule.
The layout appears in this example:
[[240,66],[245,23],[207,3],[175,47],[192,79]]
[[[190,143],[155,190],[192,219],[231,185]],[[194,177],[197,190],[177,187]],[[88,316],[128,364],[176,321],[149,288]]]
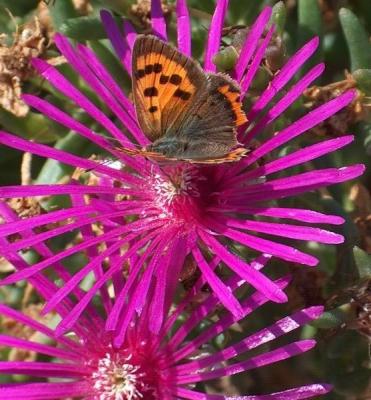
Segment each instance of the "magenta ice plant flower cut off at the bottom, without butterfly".
[[[16,255],[15,255],[16,256]],[[261,268],[267,258],[256,260]],[[16,259],[19,269],[22,259]],[[48,299],[53,284],[42,276],[33,278],[34,284]],[[288,278],[278,279],[275,284],[284,289]],[[246,285],[236,275],[224,282],[231,292]],[[149,297],[154,295],[152,281]],[[91,306],[75,324],[68,335],[58,333],[43,323],[33,320],[20,311],[0,305],[0,315],[39,332],[48,340],[18,338],[0,335],[0,345],[30,351],[36,354],[34,361],[0,361],[1,374],[24,375],[23,383],[0,384],[2,400],[172,400],[172,399],[246,399],[267,400],[306,399],[327,393],[329,385],[309,384],[296,388],[283,388],[281,392],[226,396],[207,394],[195,388],[199,382],[218,379],[253,370],[281,360],[300,355],[315,345],[314,340],[292,340],[275,344],[275,340],[293,332],[302,325],[319,317],[321,306],[313,306],[275,321],[272,325],[230,344],[223,349],[207,345],[213,338],[226,331],[241,318],[250,317],[268,299],[260,292],[241,299],[242,313],[215,312],[220,302],[215,293],[200,300],[200,286],[186,293],[178,305],[169,312],[174,290],[167,293],[165,314],[153,307],[155,299],[146,301],[140,316],[129,316],[128,328],[122,336],[122,328],[107,332],[103,314]],[[204,293],[205,294],[205,293]],[[79,296],[78,291],[74,295]],[[70,311],[71,303],[65,299],[56,306],[60,317]],[[157,311],[156,311],[157,310]],[[161,321],[158,333],[150,329],[150,315],[156,312]],[[200,323],[209,319],[209,324]],[[123,318],[127,315],[124,313]],[[125,323],[123,321],[123,323]],[[35,335],[32,336],[35,338]],[[254,354],[248,354],[250,350]],[[236,360],[238,357],[238,360]],[[36,379],[35,379],[36,378]],[[33,381],[34,380],[34,381]]]

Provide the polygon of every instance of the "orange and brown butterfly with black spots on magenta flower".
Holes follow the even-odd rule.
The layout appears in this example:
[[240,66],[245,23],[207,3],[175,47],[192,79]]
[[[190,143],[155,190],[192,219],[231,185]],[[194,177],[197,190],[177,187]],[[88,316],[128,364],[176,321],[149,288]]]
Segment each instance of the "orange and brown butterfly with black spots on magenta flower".
[[217,164],[238,161],[237,127],[247,122],[240,89],[221,73],[205,73],[193,59],[152,35],[133,48],[133,97],[138,123],[151,143],[122,149],[157,161]]

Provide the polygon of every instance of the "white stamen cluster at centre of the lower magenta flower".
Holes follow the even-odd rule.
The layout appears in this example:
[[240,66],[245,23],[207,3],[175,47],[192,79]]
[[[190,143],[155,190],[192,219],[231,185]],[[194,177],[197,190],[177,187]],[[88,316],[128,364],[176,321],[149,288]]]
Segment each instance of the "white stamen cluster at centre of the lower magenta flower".
[[131,356],[113,357],[107,353],[98,362],[96,372],[92,374],[97,400],[138,400],[143,399],[146,385],[142,379],[145,374],[140,367],[130,364]]

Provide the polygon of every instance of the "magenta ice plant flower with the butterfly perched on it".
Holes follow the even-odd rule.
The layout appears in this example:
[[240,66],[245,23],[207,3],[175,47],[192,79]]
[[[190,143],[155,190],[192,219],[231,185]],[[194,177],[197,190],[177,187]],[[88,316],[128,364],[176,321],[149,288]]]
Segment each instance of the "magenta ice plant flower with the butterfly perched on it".
[[[212,59],[220,47],[227,7],[227,0],[217,1],[205,48],[205,71],[216,71]],[[152,1],[151,13],[153,34],[167,40],[160,0]],[[271,9],[265,8],[258,16],[231,72],[240,85],[242,97],[249,90],[273,34],[274,26],[269,27],[270,15]],[[176,16],[178,48],[187,56],[191,56],[191,26],[185,0],[178,0]],[[131,52],[136,37],[134,28],[129,22],[125,22],[122,32],[106,11],[102,12],[102,20],[113,47],[130,75]],[[263,33],[267,27],[268,33],[264,37]],[[41,76],[83,109],[102,130],[105,129],[122,146],[135,148],[148,144],[148,139],[138,126],[134,106],[128,94],[122,91],[91,49],[81,44],[74,48],[60,34],[55,36],[55,43],[71,67],[105,102],[120,126],[124,126],[125,129],[115,124],[58,69],[44,60],[35,59],[33,65]],[[317,38],[310,40],[272,78],[266,90],[247,113],[249,126],[239,132],[241,143],[248,146],[252,138],[279,118],[321,74],[324,66],[318,64],[299,81],[288,85],[317,46]],[[272,105],[271,101],[281,93],[283,95]],[[340,149],[349,144],[353,137],[343,136],[325,140],[269,162],[264,162],[264,157],[268,153],[275,154],[275,150],[281,146],[334,115],[348,105],[353,96],[354,93],[348,91],[312,110],[234,164],[201,166],[185,163],[161,166],[143,157],[123,154],[112,145],[112,141],[73,119],[55,105],[34,95],[25,95],[24,101],[28,105],[112,154],[120,161],[121,168],[103,165],[0,132],[0,143],[4,145],[76,168],[91,170],[97,175],[94,184],[71,181],[68,184],[0,188],[0,196],[3,198],[69,195],[73,199],[70,207],[0,226],[0,237],[3,238],[21,233],[25,229],[42,228],[38,233],[0,246],[0,253],[19,252],[75,229],[84,231],[82,242],[69,246],[49,259],[35,263],[27,270],[15,272],[3,280],[2,284],[31,278],[77,252],[98,252],[96,258],[90,260],[73,278],[65,281],[64,287],[51,299],[46,310],[55,307],[93,271],[96,282],[89,289],[87,298],[92,299],[108,280],[112,279],[114,283],[116,302],[107,319],[106,327],[109,330],[117,328],[118,321],[122,318],[123,306],[128,302],[128,294],[134,286],[138,287],[135,285],[138,280],[141,281],[139,287],[142,293],[134,296],[136,301],[139,302],[140,298],[145,297],[151,279],[156,281],[157,296],[154,298],[162,299],[168,275],[179,274],[186,257],[187,260],[193,259],[191,262],[198,265],[203,279],[235,316],[240,316],[243,309],[213,271],[220,262],[267,298],[276,302],[285,301],[286,296],[277,285],[256,270],[251,263],[234,254],[231,247],[235,247],[236,244],[243,245],[255,252],[271,254],[285,261],[314,266],[318,262],[315,257],[296,247],[283,244],[280,240],[289,238],[330,244],[343,241],[341,235],[309,225],[341,224],[342,218],[312,210],[281,207],[272,201],[353,179],[363,172],[362,165],[317,169],[280,178],[271,178],[271,175]],[[264,217],[264,220],[257,221],[255,216]],[[284,221],[279,222],[280,218]],[[99,225],[100,229],[92,230],[94,224]],[[179,238],[184,244],[182,252],[175,246]],[[98,247],[100,242],[106,243],[105,249]],[[123,253],[123,249],[128,250]],[[209,260],[210,255],[214,257],[213,262]],[[102,265],[107,258],[112,262],[110,269],[104,271]],[[124,284],[120,275],[123,265],[128,265],[127,269],[130,271]],[[79,312],[82,312],[87,304],[87,300],[79,304]],[[130,308],[134,313],[141,307],[131,299]],[[126,312],[128,313],[128,310]]]

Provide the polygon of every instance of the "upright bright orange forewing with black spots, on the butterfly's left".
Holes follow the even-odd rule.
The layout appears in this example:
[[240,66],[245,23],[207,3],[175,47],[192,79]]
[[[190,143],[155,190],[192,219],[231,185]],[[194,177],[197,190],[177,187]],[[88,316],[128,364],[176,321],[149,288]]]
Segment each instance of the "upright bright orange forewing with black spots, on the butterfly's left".
[[206,77],[196,62],[152,35],[138,36],[132,62],[138,121],[154,141],[187,115]]

